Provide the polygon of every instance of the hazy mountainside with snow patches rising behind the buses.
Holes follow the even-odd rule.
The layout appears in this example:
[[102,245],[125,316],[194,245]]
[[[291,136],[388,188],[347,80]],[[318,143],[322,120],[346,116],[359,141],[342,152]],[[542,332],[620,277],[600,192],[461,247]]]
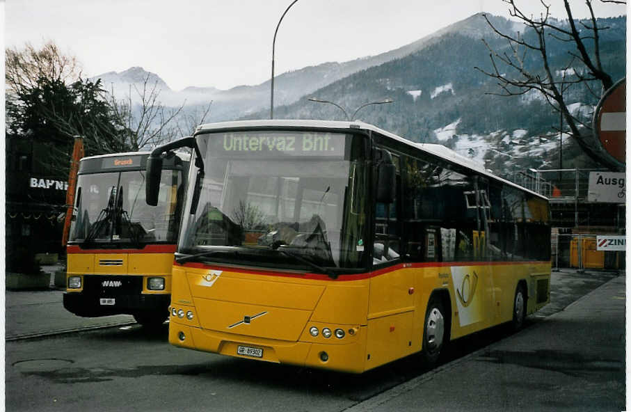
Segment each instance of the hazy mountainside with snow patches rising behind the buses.
[[[492,17],[502,30],[520,29],[514,22]],[[614,79],[625,76],[625,17],[599,22],[602,31],[601,61]],[[521,28],[523,29],[523,28]],[[526,33],[527,34],[527,33]],[[335,102],[353,113],[368,102],[385,98],[391,104],[369,105],[358,111],[365,122],[418,143],[440,143],[499,175],[527,168],[557,168],[559,115],[536,90],[501,97],[493,79],[480,70],[491,70],[488,49],[506,49],[506,41],[490,31],[481,15],[474,15],[399,49],[345,63],[323,63],[275,78],[275,118],[344,120]],[[573,81],[583,75],[568,67],[569,43],[548,41],[550,66],[559,79]],[[525,65],[534,73],[541,63],[526,55]],[[189,87],[171,90],[157,74],[141,68],[109,72],[100,76],[104,88],[117,96],[138,90],[142,81],[161,90],[159,100],[167,105],[186,104],[194,110],[212,102],[207,121],[269,118],[269,82],[238,86],[230,90]],[[598,97],[585,88],[564,92],[568,109],[585,125],[591,124]],[[572,139],[564,135],[563,166],[591,167]]]

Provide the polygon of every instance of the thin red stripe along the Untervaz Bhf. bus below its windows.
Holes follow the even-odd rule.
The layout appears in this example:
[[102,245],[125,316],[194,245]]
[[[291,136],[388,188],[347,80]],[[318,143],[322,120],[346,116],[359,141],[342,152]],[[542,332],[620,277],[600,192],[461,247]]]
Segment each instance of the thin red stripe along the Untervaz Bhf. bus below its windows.
[[195,269],[214,269],[214,270],[222,270],[222,271],[233,271],[240,274],[254,274],[254,275],[263,275],[263,276],[278,276],[281,278],[303,278],[303,279],[312,279],[312,280],[337,280],[337,281],[348,281],[348,280],[362,280],[374,278],[375,276],[381,276],[383,274],[387,274],[392,271],[396,271],[399,269],[410,269],[410,268],[430,268],[430,267],[462,267],[462,266],[510,266],[510,265],[523,265],[523,264],[546,264],[550,263],[548,261],[523,261],[523,262],[418,262],[418,263],[399,263],[393,266],[385,267],[383,269],[378,269],[376,271],[367,272],[363,274],[344,274],[337,276],[337,278],[330,278],[326,274],[313,274],[313,273],[305,273],[305,274],[289,274],[287,272],[277,272],[277,271],[268,271],[265,269],[261,269],[260,271],[250,270],[250,269],[236,269],[232,267],[225,267],[221,265],[214,264],[205,264],[205,263],[197,263],[197,262],[186,262],[184,264],[180,264],[174,262],[176,266],[180,267],[191,267]]

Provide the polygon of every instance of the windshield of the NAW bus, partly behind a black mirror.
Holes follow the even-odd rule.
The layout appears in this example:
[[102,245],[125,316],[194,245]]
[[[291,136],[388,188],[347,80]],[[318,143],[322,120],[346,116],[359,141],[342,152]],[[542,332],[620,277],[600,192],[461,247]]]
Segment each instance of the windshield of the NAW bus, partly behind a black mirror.
[[150,244],[177,240],[181,173],[162,171],[159,202],[145,202],[145,171],[79,175],[69,243]]

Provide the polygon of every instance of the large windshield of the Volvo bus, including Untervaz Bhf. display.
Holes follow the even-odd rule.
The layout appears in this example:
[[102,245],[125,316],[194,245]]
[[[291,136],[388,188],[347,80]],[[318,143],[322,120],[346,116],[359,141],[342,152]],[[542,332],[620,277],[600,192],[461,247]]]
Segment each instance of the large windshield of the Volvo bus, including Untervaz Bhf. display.
[[309,271],[365,266],[361,136],[250,131],[201,134],[197,143],[205,168],[191,173],[180,259]]

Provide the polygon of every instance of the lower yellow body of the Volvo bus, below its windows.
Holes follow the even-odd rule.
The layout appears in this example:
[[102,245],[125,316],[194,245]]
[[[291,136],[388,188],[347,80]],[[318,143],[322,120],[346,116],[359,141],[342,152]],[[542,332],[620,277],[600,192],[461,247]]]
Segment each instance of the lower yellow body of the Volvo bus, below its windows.
[[[527,290],[527,313],[550,301],[550,262],[457,265],[399,264],[340,280],[176,266],[171,306],[191,310],[193,319],[172,315],[169,342],[360,373],[422,350],[433,293],[447,296],[452,339],[509,322],[520,281]],[[309,333],[312,326],[317,336]],[[344,338],[325,338],[324,328],[342,329]],[[240,346],[262,349],[262,356],[240,355]]]

